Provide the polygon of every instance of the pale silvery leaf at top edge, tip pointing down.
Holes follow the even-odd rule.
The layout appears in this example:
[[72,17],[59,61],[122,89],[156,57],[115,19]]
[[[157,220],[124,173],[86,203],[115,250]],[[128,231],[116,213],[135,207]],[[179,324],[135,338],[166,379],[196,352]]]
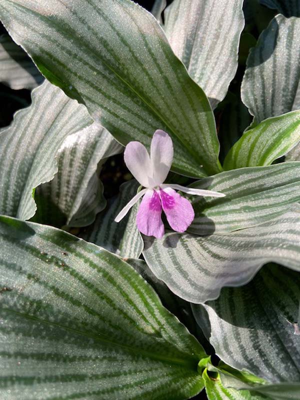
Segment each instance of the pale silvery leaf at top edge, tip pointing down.
[[242,0],[174,0],[164,15],[174,53],[214,108],[236,72]]

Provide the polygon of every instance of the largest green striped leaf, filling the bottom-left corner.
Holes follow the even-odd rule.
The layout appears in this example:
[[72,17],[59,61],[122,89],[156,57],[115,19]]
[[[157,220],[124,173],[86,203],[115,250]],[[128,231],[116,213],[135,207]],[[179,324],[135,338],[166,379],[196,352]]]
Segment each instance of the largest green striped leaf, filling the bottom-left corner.
[[187,399],[201,345],[118,256],[0,218],[1,398]]

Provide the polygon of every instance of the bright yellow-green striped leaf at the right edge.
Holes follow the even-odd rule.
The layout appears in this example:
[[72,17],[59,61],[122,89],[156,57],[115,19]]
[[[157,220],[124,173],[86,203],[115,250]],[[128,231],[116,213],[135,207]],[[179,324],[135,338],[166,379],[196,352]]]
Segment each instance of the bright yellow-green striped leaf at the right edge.
[[300,111],[265,119],[247,130],[225,157],[224,169],[270,165],[300,141]]

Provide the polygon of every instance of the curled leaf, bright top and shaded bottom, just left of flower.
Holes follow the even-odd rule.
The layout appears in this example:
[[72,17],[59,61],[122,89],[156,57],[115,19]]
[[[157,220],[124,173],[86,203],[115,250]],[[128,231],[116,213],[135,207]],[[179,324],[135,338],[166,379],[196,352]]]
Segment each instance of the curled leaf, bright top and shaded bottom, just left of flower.
[[58,172],[35,190],[34,221],[58,227],[92,223],[106,205],[98,171],[107,157],[121,149],[97,123],[67,136],[56,156]]

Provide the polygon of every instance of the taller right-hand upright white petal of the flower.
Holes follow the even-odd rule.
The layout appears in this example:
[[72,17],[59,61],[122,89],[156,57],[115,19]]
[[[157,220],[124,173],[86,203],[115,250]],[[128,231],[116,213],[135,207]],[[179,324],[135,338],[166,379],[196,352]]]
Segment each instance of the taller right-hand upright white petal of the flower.
[[173,142],[170,136],[163,130],[155,130],[150,151],[155,185],[160,185],[165,180],[172,165],[173,152]]

